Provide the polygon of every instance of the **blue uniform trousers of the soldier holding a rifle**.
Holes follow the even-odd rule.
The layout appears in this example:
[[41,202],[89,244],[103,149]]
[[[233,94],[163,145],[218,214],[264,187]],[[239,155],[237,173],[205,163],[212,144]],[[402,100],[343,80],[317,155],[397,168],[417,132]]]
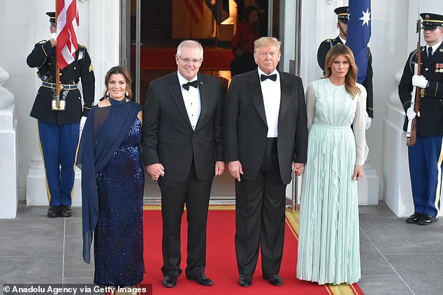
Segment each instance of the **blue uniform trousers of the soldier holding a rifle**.
[[433,217],[440,211],[442,190],[442,136],[417,136],[408,147],[409,174],[416,213]]

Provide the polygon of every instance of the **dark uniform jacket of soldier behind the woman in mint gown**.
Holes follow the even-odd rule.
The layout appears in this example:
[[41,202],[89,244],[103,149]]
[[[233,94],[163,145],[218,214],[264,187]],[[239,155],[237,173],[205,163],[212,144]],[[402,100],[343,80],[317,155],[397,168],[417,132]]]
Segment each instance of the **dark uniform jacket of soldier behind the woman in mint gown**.
[[[343,44],[340,37],[334,39],[326,39],[324,40],[320,46],[319,50],[317,50],[317,61],[321,70],[324,71],[324,63],[326,60],[326,54],[328,51],[336,44]],[[368,47],[368,68],[366,68],[366,79],[363,81],[363,86],[365,86],[366,92],[368,93],[368,97],[366,98],[366,112],[371,118],[374,118],[374,94],[372,91],[372,54]]]

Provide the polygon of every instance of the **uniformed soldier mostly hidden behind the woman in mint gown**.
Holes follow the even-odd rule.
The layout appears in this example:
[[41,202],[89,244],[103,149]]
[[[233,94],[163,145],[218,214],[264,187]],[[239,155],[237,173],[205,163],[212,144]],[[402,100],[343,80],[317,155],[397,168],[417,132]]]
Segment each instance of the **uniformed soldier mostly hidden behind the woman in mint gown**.
[[[335,44],[346,44],[347,31],[348,31],[348,6],[342,6],[335,8],[335,14],[337,14],[337,29],[340,34],[337,38],[326,39],[321,42],[319,50],[317,50],[317,61],[321,70],[324,72],[324,63],[326,54]],[[366,112],[369,119],[366,121],[366,129],[368,130],[371,125],[372,118],[374,117],[373,108],[373,91],[372,91],[372,54],[368,47],[368,68],[366,70],[366,79],[363,81],[368,97],[366,98]]]

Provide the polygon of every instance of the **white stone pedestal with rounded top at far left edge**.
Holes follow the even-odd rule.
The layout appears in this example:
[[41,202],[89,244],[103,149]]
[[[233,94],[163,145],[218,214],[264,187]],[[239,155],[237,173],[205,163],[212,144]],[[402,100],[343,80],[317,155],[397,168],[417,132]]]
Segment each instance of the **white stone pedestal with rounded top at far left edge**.
[[17,213],[17,119],[13,93],[3,88],[9,74],[0,68],[0,218]]

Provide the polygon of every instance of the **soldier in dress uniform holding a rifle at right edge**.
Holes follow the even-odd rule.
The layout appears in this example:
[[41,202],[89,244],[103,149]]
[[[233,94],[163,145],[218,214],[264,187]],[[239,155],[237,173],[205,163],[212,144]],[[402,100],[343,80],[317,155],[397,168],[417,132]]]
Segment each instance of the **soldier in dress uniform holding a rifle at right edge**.
[[[408,147],[414,214],[408,223],[430,225],[437,222],[440,211],[443,159],[443,15],[421,13],[426,46],[421,50],[421,75],[414,75],[416,51],[409,54],[398,95],[409,117],[416,120],[416,144]],[[411,107],[413,86],[419,87],[420,111],[416,116]],[[415,98],[412,98],[415,99]]]

